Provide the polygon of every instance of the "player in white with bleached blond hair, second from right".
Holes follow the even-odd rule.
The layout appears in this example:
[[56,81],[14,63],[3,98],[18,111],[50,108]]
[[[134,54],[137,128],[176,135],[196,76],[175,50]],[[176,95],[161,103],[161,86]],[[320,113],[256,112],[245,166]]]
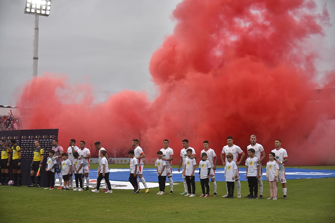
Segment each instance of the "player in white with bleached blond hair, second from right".
[[258,189],[259,189],[259,198],[263,198],[263,171],[262,171],[262,160],[265,158],[265,151],[264,148],[261,144],[256,143],[257,138],[256,135],[251,135],[250,136],[250,142],[251,144],[247,146],[247,151],[248,149],[255,149],[255,156],[258,158],[257,163],[259,163],[259,173],[258,175],[260,178],[258,178]]

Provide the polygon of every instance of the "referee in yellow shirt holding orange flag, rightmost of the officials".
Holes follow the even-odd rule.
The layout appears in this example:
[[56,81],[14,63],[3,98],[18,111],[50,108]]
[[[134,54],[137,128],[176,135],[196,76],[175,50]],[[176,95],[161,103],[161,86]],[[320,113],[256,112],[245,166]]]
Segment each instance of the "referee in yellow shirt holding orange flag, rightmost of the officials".
[[[39,171],[39,168],[42,167],[43,158],[44,158],[44,149],[40,146],[40,141],[35,141],[35,149],[34,149],[34,159],[31,162],[30,168],[30,177],[31,177],[31,185],[28,187],[35,187],[35,172]],[[42,170],[42,169],[41,169]],[[37,185],[36,187],[40,187],[41,175],[37,177]]]

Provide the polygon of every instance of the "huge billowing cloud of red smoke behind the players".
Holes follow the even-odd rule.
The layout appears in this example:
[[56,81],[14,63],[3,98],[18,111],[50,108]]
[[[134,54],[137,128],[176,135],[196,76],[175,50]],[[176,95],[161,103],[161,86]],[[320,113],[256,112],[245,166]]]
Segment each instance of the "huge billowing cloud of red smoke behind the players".
[[[59,128],[64,147],[75,138],[91,149],[96,140],[130,149],[140,133],[147,157],[167,138],[175,164],[184,138],[199,156],[204,140],[220,154],[233,136],[246,151],[255,134],[266,153],[281,139],[289,165],[333,165],[335,93],[328,89],[318,99],[321,93],[311,90],[322,86],[314,81],[318,54],[306,45],[324,35],[329,15],[315,11],[313,1],[303,0],[183,1],[173,12],[174,33],[150,61],[159,87],[153,102],[124,91],[94,104],[89,86],[45,75],[31,80],[17,103],[34,108],[25,128]],[[323,83],[334,88],[334,72]]]

